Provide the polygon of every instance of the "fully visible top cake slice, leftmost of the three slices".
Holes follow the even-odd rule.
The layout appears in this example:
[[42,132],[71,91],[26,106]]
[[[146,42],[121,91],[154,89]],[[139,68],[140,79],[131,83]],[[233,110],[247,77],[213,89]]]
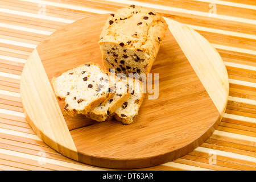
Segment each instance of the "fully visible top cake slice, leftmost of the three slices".
[[87,63],[52,78],[57,98],[65,102],[72,117],[87,114],[114,96],[110,93],[109,75],[96,63]]

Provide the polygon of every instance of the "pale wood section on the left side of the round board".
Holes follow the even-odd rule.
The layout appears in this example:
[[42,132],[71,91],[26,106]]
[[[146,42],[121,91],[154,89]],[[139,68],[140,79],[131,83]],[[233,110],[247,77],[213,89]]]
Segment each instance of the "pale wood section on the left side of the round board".
[[36,49],[24,66],[20,94],[24,113],[35,133],[56,151],[77,160],[75,144]]

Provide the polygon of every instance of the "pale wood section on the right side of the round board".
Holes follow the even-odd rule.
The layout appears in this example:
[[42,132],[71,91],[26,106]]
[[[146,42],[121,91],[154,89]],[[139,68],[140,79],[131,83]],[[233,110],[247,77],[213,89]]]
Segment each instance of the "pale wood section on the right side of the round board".
[[192,28],[169,18],[165,20],[218,111],[223,113],[228,102],[229,80],[220,54]]

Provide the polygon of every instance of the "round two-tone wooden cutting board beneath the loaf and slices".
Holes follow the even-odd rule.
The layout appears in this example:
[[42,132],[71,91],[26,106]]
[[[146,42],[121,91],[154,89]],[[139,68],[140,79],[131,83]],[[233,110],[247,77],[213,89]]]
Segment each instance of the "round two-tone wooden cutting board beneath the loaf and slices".
[[[158,95],[156,90],[145,94],[130,125],[70,117],[64,102],[56,100],[52,77],[88,62],[102,65],[97,42],[107,17],[68,24],[32,52],[20,81],[28,123],[56,151],[93,166],[149,167],[188,154],[220,123],[229,82],[216,49],[184,24],[166,18],[169,30],[151,69],[153,77],[159,76]],[[155,99],[148,99],[154,94]]]

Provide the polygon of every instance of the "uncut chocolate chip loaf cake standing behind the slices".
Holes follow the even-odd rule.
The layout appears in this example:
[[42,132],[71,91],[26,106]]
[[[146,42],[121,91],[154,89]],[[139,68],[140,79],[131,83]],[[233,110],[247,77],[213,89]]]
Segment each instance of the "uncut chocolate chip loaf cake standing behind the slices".
[[149,73],[168,25],[158,13],[131,5],[109,15],[98,42],[115,73]]

